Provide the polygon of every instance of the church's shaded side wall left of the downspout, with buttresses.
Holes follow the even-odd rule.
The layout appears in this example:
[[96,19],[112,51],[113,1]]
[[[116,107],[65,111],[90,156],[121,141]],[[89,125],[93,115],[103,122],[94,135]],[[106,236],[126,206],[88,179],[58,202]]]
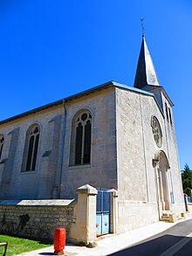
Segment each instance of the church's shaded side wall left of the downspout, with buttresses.
[[[58,198],[63,116],[64,108],[55,106],[0,125],[0,199]],[[22,171],[25,136],[33,124],[40,128],[36,170]]]

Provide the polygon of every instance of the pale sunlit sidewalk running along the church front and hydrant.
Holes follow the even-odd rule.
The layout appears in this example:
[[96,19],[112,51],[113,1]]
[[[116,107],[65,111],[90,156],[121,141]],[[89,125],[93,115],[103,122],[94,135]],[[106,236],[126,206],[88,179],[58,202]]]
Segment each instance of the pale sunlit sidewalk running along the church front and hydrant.
[[[192,212],[186,213],[185,219],[175,223],[156,222],[151,225],[135,229],[130,232],[121,233],[118,235],[106,235],[105,238],[99,239],[98,246],[95,248],[87,248],[86,246],[74,246],[67,244],[65,246],[65,256],[104,256],[120,251],[121,249],[132,246],[143,239],[154,236],[157,233],[163,232],[172,227],[178,222],[192,218]],[[18,256],[37,256],[37,255],[53,255],[53,246],[46,247],[30,253],[22,253]]]

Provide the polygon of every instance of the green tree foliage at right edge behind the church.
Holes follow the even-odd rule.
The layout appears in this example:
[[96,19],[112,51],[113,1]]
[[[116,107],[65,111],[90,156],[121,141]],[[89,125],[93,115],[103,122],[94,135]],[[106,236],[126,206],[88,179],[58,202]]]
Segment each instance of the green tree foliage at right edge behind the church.
[[190,170],[187,163],[185,164],[184,170],[182,170],[182,188],[183,192],[190,197],[192,190],[192,170]]

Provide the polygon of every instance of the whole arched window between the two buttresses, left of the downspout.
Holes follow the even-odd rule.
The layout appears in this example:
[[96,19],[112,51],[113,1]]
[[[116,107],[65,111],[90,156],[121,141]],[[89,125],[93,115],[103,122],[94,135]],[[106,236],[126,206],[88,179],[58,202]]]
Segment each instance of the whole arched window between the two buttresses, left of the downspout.
[[35,170],[37,156],[38,156],[38,142],[39,142],[40,128],[38,125],[34,125],[29,128],[26,136],[26,142],[24,147],[24,170]]

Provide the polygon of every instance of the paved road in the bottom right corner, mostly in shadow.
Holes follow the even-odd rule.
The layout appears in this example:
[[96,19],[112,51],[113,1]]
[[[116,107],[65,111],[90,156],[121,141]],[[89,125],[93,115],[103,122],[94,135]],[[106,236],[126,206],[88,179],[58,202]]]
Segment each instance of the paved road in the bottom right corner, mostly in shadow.
[[192,219],[183,221],[113,256],[192,256]]

